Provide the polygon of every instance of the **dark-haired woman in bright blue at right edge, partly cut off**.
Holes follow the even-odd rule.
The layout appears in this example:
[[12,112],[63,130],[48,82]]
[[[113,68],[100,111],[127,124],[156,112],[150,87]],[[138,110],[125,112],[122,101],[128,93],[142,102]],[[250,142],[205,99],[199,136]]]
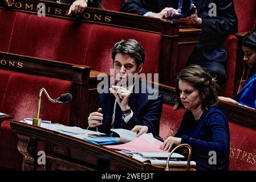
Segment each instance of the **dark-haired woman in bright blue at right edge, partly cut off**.
[[246,62],[252,76],[242,82],[241,89],[233,98],[219,98],[233,104],[256,109],[256,30],[243,36],[242,49],[245,53],[243,60]]

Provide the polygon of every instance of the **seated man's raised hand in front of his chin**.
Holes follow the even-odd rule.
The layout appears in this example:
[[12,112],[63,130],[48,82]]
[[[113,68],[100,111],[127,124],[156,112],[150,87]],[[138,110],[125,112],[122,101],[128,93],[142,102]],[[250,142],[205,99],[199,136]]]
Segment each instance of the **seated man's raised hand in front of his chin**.
[[116,101],[121,110],[125,111],[130,109],[128,101],[131,92],[129,92],[129,90],[123,88],[123,86],[112,86],[112,88],[109,88],[109,91],[116,97]]

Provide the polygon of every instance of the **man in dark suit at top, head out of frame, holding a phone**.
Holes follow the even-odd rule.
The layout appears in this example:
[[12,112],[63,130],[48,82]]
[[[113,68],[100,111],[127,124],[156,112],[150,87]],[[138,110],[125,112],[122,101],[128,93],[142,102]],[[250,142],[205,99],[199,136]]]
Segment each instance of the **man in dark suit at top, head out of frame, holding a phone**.
[[[183,6],[188,3],[190,5],[191,0],[183,0]],[[202,28],[200,43],[196,44],[188,64],[205,67],[223,84],[226,78],[224,63],[227,52],[220,44],[227,35],[237,32],[237,15],[233,0],[193,0],[193,3],[192,6],[196,7],[193,14],[180,19],[185,25]],[[216,10],[212,5],[216,5]],[[178,0],[127,0],[121,5],[120,11],[169,19],[173,14],[178,14],[177,7]],[[212,16],[212,11],[215,11],[217,16]]]

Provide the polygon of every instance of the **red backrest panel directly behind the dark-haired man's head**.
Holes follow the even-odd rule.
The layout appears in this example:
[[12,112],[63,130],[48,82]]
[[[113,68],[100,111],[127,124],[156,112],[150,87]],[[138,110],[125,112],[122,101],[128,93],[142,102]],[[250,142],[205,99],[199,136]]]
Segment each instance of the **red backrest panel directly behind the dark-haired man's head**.
[[[113,68],[111,51],[113,45],[121,39],[136,39],[144,48],[146,57],[143,73],[158,73],[161,36],[149,32],[124,30],[110,26],[97,25],[92,28],[84,64],[100,72],[109,73]],[[154,44],[152,44],[152,42]]]

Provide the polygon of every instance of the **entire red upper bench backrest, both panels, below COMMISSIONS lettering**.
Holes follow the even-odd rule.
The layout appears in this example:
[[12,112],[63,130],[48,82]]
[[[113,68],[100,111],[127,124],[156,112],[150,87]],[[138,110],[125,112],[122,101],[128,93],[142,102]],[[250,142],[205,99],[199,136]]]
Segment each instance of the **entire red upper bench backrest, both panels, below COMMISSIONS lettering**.
[[[158,72],[161,35],[149,32],[17,13],[5,44],[10,53],[88,65],[109,73],[113,45],[121,39],[138,40],[146,53],[143,72]],[[6,49],[0,47],[0,51]]]

